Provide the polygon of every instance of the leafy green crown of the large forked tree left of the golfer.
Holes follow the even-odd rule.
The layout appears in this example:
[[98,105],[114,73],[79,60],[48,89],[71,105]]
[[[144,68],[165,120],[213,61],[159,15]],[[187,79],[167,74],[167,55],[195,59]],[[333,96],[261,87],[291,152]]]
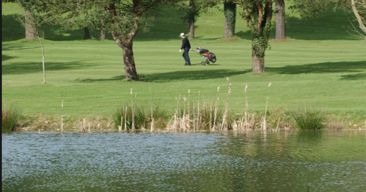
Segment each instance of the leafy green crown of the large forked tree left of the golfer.
[[[168,0],[169,1],[169,0]],[[49,12],[60,15],[59,23],[67,29],[90,29],[116,32],[120,39],[134,38],[137,31],[146,29],[165,0],[68,0],[48,4]]]

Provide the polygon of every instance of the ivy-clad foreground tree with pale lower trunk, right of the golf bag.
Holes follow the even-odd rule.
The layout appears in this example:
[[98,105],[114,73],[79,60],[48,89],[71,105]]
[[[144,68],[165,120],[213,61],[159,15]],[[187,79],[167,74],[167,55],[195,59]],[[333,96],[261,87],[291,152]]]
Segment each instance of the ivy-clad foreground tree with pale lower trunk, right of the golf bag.
[[252,71],[265,72],[265,52],[269,46],[272,21],[272,0],[231,0],[243,8],[252,35]]

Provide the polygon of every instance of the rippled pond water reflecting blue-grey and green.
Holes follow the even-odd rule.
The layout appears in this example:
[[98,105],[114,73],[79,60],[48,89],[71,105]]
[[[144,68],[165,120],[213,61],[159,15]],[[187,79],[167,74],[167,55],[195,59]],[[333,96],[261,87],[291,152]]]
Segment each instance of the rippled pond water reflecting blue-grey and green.
[[365,192],[366,130],[2,134],[2,192]]

